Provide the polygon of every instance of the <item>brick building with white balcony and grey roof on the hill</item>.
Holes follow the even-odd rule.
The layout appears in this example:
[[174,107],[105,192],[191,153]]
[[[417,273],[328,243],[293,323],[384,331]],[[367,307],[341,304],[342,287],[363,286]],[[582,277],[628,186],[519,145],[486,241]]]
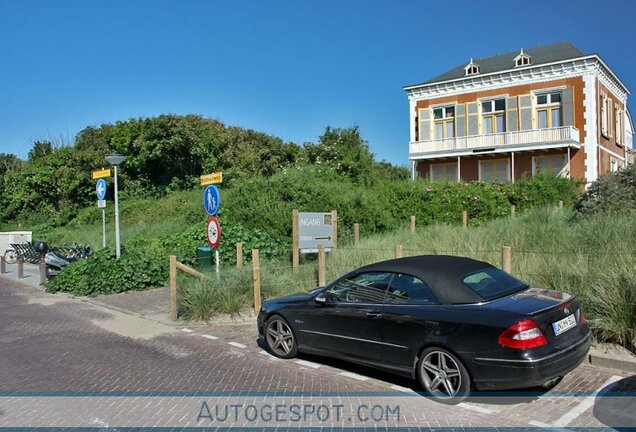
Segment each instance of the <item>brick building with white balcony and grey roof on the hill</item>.
[[547,172],[589,184],[633,160],[627,87],[569,43],[470,59],[404,89],[413,178],[514,182]]

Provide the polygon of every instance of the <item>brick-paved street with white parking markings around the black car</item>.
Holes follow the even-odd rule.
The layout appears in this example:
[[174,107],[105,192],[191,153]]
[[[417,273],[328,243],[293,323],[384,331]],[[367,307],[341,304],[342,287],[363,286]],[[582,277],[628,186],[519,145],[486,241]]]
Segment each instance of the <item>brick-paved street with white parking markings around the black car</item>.
[[275,359],[253,319],[174,326],[113,299],[0,279],[0,428],[636,426],[636,377],[616,370],[584,365],[549,393],[446,406],[371,369]]

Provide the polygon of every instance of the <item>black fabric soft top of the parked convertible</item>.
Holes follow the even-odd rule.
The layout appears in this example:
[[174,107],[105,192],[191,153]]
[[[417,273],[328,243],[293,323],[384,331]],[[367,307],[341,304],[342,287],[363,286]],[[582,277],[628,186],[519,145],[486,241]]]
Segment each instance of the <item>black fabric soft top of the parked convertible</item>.
[[479,303],[483,301],[462,283],[463,276],[485,268],[484,261],[451,255],[419,255],[396,258],[360,267],[356,273],[385,271],[415,276],[423,280],[441,303]]

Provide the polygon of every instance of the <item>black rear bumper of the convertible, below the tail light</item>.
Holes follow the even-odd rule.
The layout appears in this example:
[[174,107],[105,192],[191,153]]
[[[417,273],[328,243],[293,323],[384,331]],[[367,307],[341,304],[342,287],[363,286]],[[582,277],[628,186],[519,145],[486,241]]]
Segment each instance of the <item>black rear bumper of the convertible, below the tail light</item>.
[[537,359],[475,357],[472,372],[478,390],[507,390],[537,387],[574,370],[587,357],[592,333],[572,346]]

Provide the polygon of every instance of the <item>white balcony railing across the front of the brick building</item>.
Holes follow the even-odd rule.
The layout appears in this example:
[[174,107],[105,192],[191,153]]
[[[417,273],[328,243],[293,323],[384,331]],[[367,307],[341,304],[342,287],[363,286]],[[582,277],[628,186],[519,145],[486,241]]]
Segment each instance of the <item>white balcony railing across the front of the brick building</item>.
[[[532,147],[545,144],[580,144],[579,130],[573,126],[550,129],[504,132],[490,135],[473,135],[416,141],[410,144],[411,156],[425,156],[427,153],[446,153],[478,148]],[[512,150],[512,148],[511,148]]]

